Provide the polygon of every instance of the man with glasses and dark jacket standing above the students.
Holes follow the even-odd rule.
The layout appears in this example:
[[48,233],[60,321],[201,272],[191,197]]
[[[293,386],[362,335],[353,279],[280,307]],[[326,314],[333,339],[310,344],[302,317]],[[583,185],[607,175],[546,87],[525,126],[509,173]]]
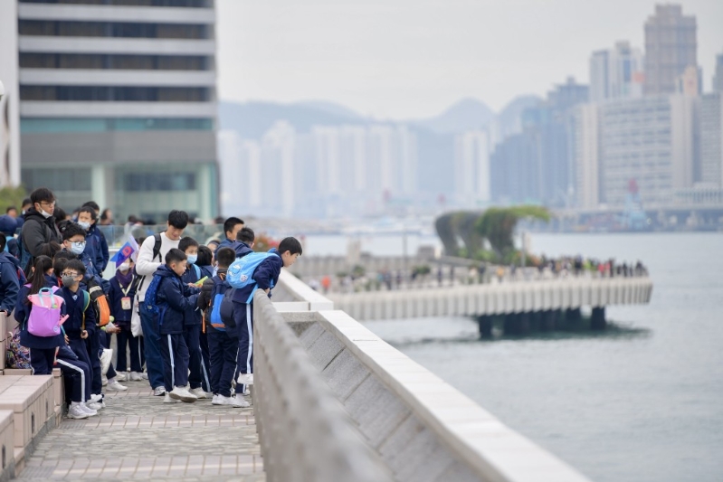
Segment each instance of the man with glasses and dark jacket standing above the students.
[[55,225],[55,195],[47,187],[39,187],[30,194],[33,207],[25,213],[21,237],[20,265],[29,272],[33,260],[43,254],[51,242],[62,242],[61,233]]

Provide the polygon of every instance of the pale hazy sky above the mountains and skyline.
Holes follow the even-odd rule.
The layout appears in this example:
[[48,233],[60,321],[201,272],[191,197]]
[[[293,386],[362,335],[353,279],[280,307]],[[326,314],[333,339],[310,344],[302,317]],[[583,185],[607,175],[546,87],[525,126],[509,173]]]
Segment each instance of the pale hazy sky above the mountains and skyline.
[[[423,118],[464,97],[501,109],[568,75],[597,49],[644,47],[642,0],[216,0],[219,95],[326,99],[376,118]],[[710,89],[723,0],[684,0]]]

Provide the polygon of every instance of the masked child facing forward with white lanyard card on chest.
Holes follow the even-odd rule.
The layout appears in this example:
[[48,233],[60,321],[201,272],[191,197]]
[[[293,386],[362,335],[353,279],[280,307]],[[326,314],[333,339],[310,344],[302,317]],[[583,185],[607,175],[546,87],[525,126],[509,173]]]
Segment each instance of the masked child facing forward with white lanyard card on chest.
[[116,269],[116,276],[110,279],[109,306],[113,316],[113,324],[119,327],[116,334],[118,343],[118,370],[120,373],[128,371],[126,348],[130,349],[130,375],[128,380],[138,382],[143,380],[143,336],[133,336],[130,332],[130,318],[133,315],[133,298],[136,297],[138,277],[133,270],[133,260],[123,261]]

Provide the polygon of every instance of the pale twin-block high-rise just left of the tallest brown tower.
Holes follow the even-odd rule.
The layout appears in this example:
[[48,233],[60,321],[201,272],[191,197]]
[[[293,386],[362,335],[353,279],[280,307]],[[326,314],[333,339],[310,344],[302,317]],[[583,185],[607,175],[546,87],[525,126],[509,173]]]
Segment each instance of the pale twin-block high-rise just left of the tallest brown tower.
[[590,101],[635,99],[642,96],[642,52],[628,42],[612,50],[593,52],[590,58]]

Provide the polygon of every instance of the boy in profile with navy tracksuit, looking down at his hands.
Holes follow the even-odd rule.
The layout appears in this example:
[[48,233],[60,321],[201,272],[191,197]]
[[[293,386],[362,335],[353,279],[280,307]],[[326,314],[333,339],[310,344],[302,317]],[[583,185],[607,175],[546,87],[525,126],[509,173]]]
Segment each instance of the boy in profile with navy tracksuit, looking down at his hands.
[[[155,277],[161,277],[157,286],[158,331],[160,332],[161,358],[163,359],[163,383],[166,393],[163,402],[195,402],[188,392],[188,347],[184,339],[186,317],[194,316],[198,301],[198,288],[186,285],[181,277],[186,272],[186,254],[172,248],[166,254],[166,264],[161,265]],[[190,321],[190,320],[189,320]]]

